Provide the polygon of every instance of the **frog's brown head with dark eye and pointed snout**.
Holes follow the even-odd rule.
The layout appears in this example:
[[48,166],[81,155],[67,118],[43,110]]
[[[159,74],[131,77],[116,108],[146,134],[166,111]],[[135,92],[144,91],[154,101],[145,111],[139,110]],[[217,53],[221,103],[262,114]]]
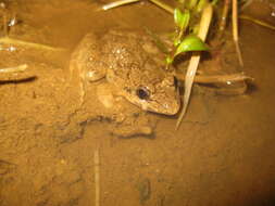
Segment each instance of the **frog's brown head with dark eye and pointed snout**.
[[145,111],[165,115],[175,115],[180,107],[177,81],[172,75],[158,82],[135,87],[126,99]]

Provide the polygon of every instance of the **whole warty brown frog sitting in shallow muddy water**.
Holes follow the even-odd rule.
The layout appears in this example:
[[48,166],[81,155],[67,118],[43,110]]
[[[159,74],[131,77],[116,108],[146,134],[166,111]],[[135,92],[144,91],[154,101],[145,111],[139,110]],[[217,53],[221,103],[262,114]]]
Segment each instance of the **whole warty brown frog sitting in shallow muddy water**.
[[180,107],[177,81],[164,57],[142,30],[86,34],[70,61],[70,79],[79,83],[86,116],[109,119],[111,133],[118,137],[151,136],[151,113],[175,115]]

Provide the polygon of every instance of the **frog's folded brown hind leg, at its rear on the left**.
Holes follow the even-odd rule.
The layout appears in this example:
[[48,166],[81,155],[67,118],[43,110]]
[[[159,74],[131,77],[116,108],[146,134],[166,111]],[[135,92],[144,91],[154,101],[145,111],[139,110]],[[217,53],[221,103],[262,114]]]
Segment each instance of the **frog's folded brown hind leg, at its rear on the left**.
[[88,83],[105,77],[105,63],[100,51],[96,35],[87,34],[72,53],[70,82],[74,77],[79,79],[82,104]]

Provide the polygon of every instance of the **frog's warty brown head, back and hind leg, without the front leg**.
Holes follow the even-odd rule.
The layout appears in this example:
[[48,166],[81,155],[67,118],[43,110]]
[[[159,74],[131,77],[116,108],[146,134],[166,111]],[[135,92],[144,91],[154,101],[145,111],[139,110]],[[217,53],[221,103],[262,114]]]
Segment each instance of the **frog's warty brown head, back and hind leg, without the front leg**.
[[90,82],[105,78],[117,95],[142,110],[174,115],[179,94],[163,60],[146,33],[114,29],[87,34],[72,54],[70,70],[80,76],[83,99]]

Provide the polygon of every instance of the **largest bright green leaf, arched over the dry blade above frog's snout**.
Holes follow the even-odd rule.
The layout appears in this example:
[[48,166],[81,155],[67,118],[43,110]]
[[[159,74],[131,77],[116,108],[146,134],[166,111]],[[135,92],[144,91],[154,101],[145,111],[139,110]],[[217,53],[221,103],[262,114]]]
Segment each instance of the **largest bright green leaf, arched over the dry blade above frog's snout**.
[[208,46],[197,36],[187,36],[182,43],[177,47],[175,55],[188,51],[205,51],[209,50]]

